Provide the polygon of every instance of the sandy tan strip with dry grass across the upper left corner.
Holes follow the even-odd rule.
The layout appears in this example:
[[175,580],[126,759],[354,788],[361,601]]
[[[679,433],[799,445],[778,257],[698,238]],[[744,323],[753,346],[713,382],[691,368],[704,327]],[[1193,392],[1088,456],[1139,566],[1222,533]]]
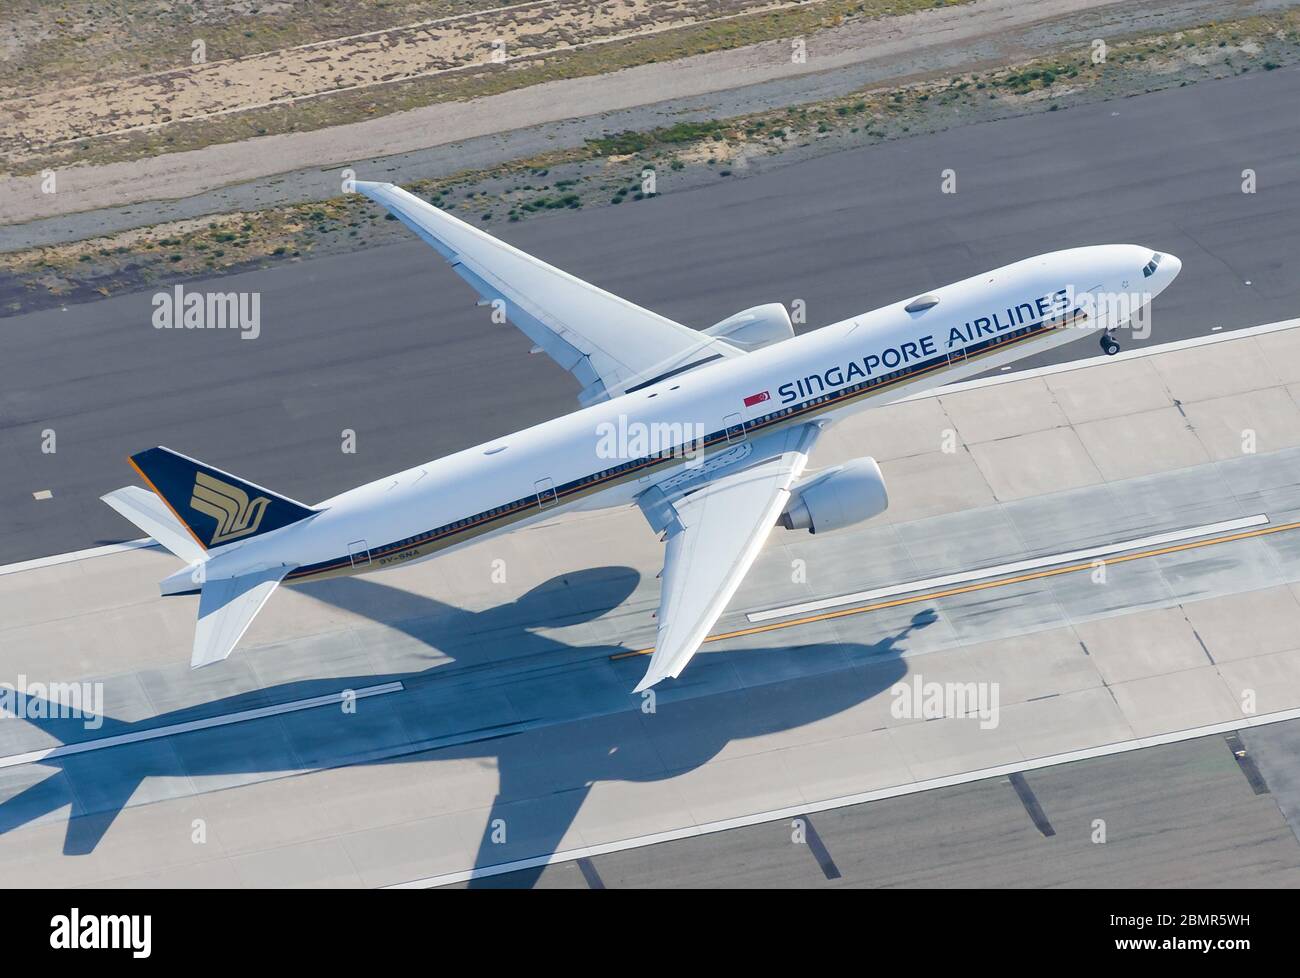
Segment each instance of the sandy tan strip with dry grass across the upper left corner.
[[[0,109],[0,152],[12,173],[140,159],[807,35],[848,17],[970,0],[814,0],[789,7],[792,1],[542,0],[456,21],[442,34],[394,31],[199,70],[187,68],[186,42],[183,57],[174,62],[181,66],[161,75],[101,81],[72,91],[25,87],[21,98],[16,92]],[[770,9],[776,5],[783,8],[779,14]],[[507,64],[486,60],[490,40],[498,36],[507,42],[512,59]],[[573,47],[593,40],[601,43]],[[220,53],[209,42],[209,62]],[[430,70],[439,73],[425,74]],[[309,98],[243,108],[303,96]]]

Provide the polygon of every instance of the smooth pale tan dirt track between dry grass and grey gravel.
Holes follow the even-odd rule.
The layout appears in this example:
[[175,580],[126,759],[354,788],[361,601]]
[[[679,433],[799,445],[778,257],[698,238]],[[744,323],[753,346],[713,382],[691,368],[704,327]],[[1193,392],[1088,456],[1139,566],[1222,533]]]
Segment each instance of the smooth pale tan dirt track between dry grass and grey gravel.
[[[9,172],[21,172],[22,176],[0,178],[0,222],[20,224],[135,200],[191,196],[302,166],[408,152],[573,116],[827,72],[845,64],[897,57],[902,52],[923,52],[935,46],[996,38],[1015,25],[1117,5],[1118,0],[975,0],[900,17],[850,21],[807,38],[805,61],[792,59],[789,39],[775,40],[673,62],[640,65],[612,74],[530,86],[474,101],[445,101],[325,130],[272,134],[116,164],[57,164],[53,166],[58,172],[56,194],[39,192],[42,166],[38,161],[29,159],[26,165],[20,165],[20,157],[10,157]],[[52,103],[49,111],[53,112],[57,104],[58,100]],[[16,139],[20,120],[3,122],[5,112],[17,114],[0,107],[0,133],[9,131]],[[8,130],[3,127],[5,125]],[[22,131],[32,127],[27,122],[22,125]]]

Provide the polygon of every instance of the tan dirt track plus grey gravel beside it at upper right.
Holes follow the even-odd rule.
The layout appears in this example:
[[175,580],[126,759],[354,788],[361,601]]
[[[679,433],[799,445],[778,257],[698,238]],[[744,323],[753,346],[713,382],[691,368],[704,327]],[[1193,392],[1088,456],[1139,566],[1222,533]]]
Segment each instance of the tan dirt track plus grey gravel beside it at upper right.
[[[187,199],[218,187],[318,170],[521,127],[597,117],[634,107],[673,103],[707,92],[764,88],[781,104],[781,85],[848,69],[896,81],[1027,60],[1069,36],[1114,38],[1147,27],[1231,20],[1287,9],[1295,0],[976,0],[900,17],[852,21],[806,39],[807,60],[792,61],[790,42],[716,51],[671,64],[607,75],[568,78],[474,101],[448,101],[318,131],[268,135],[190,152],[104,165],[57,169],[57,192],[40,192],[40,174],[0,178],[0,224]],[[1080,23],[1084,26],[1080,27]],[[1086,31],[1086,34],[1080,34]],[[1054,42],[1054,43],[1053,43]],[[954,53],[956,52],[956,53]],[[775,87],[774,87],[775,86]],[[806,98],[806,96],[803,96]],[[164,220],[160,208],[156,220]]]

